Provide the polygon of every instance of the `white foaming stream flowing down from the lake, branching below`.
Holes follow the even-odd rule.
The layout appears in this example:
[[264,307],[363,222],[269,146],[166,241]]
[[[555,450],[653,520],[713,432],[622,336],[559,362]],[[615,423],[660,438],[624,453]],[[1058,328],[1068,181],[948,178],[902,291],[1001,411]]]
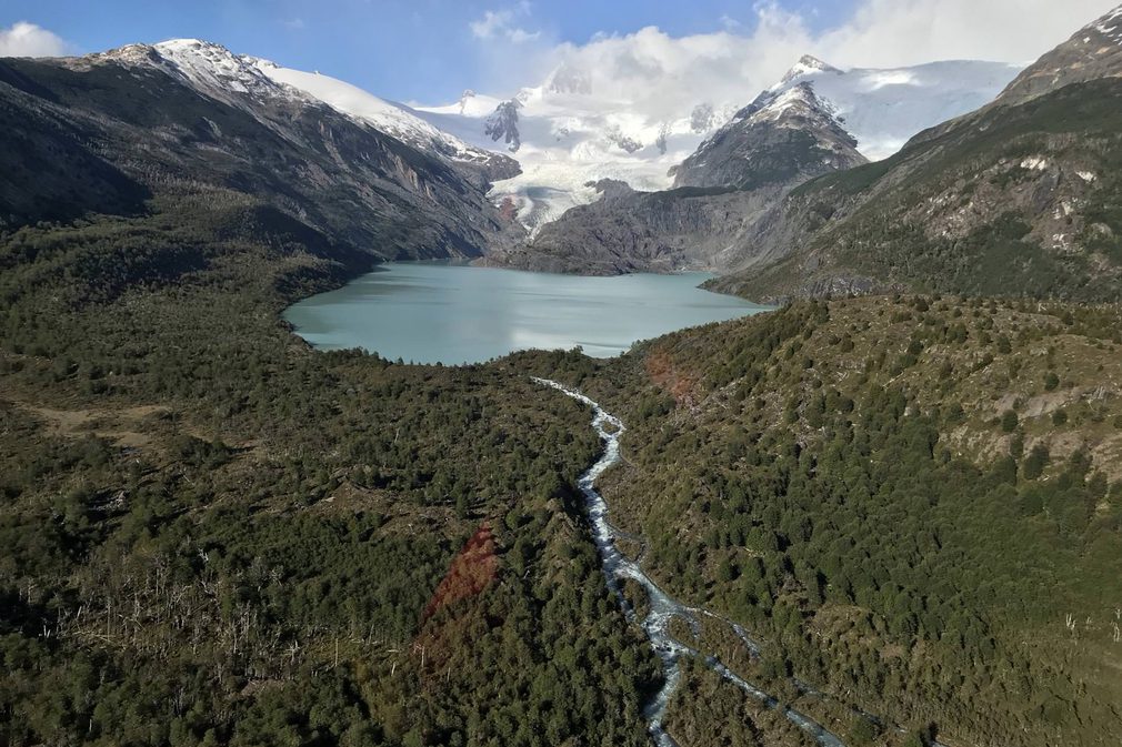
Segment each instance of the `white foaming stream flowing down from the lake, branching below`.
[[[577,485],[580,488],[581,494],[585,496],[585,509],[588,513],[588,518],[592,525],[592,537],[596,542],[597,550],[599,551],[600,564],[604,570],[604,578],[607,582],[608,589],[615,594],[624,610],[625,616],[627,617],[627,620],[631,622],[638,622],[638,625],[646,633],[646,637],[651,642],[651,647],[662,662],[663,685],[659,692],[655,693],[654,698],[651,699],[651,702],[649,702],[643,709],[643,717],[646,719],[647,730],[650,731],[655,744],[659,747],[678,747],[673,737],[671,737],[663,727],[663,717],[666,713],[666,707],[670,704],[670,699],[678,690],[678,684],[682,676],[679,661],[683,656],[697,658],[706,667],[716,672],[727,682],[735,684],[747,695],[760,701],[765,707],[780,708],[781,706],[775,698],[745,681],[738,674],[725,666],[717,657],[705,656],[696,648],[678,640],[670,635],[669,629],[670,621],[678,618],[689,626],[689,629],[695,636],[698,636],[701,631],[700,617],[710,617],[729,625],[736,636],[744,643],[745,647],[747,647],[752,656],[758,656],[760,644],[753,640],[743,627],[732,620],[727,620],[724,617],[716,615],[715,612],[682,605],[663,591],[659,584],[652,581],[646,573],[643,572],[638,562],[624,557],[624,555],[616,547],[616,540],[619,536],[619,533],[608,522],[608,505],[607,501],[604,500],[600,492],[596,489],[596,481],[601,474],[604,474],[605,471],[619,461],[619,436],[623,435],[625,431],[623,421],[608,413],[606,409],[600,407],[599,404],[580,391],[567,387],[563,384],[536,377],[534,377],[534,381],[557,389],[558,391],[591,407],[594,414],[592,427],[596,430],[597,434],[599,434],[600,440],[604,441],[604,453],[600,455],[600,459],[592,464],[588,471],[580,476]],[[638,619],[635,608],[628,603],[627,599],[623,594],[620,584],[626,579],[632,579],[637,582],[646,591],[650,601],[650,611],[642,620]],[[813,739],[821,747],[845,747],[845,744],[836,735],[803,713],[785,707],[783,708],[782,713],[789,721],[802,729],[806,734],[813,737]]]

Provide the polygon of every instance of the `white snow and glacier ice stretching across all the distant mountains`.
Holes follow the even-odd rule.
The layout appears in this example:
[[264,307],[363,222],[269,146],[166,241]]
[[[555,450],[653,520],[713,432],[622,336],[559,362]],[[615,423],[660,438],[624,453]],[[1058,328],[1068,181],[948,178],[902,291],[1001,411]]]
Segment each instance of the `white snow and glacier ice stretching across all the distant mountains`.
[[327,104],[467,167],[479,183],[494,185],[493,202],[532,233],[596,200],[594,185],[605,178],[640,191],[671,187],[675,167],[691,157],[696,162],[710,136],[753,108],[770,103],[775,111],[808,92],[864,156],[876,159],[916,132],[991,100],[1018,72],[982,62],[842,71],[807,56],[745,109],[734,102],[683,101],[675,116],[655,118],[618,95],[603,95],[586,72],[568,65],[508,99],[465,91],[448,105],[411,107],[197,39],[132,45],[101,56],[163,67],[236,107],[247,96]]

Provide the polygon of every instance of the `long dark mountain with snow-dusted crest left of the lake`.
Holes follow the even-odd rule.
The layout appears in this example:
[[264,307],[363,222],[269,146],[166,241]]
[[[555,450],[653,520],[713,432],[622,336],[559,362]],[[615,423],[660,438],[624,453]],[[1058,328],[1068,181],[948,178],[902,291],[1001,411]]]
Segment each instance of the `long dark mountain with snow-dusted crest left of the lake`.
[[25,138],[8,149],[7,170],[63,153],[79,172],[25,185],[2,201],[0,222],[49,214],[52,201],[98,208],[114,202],[101,193],[135,182],[116,202],[145,191],[173,202],[233,195],[352,257],[478,257],[525,236],[487,197],[484,169],[463,160],[468,146],[438,147],[454,140],[422,120],[414,129],[430,139],[411,145],[401,127],[392,131],[408,123],[405,112],[392,122],[344,112],[220,45],[177,39],[0,66],[6,129]]

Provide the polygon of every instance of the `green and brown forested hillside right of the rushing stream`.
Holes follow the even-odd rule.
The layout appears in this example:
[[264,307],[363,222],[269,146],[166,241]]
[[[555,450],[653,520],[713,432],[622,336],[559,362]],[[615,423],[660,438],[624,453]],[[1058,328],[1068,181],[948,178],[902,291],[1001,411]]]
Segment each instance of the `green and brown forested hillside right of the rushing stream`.
[[[604,489],[645,568],[764,640],[749,661],[708,638],[719,625],[702,634],[749,681],[853,744],[895,723],[949,745],[1107,745],[1120,313],[803,303],[569,379],[628,425]],[[714,692],[698,676],[695,697]],[[709,744],[697,702],[681,708],[680,744]]]

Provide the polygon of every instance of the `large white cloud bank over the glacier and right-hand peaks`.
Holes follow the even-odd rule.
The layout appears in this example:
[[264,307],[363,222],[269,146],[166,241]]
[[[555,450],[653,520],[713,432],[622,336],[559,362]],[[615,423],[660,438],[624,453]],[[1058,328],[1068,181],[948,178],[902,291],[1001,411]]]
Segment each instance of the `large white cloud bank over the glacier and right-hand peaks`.
[[[744,104],[803,54],[839,67],[894,67],[939,59],[1028,63],[1118,0],[858,0],[848,18],[821,29],[775,0],[757,3],[743,25],[714,19],[715,30],[672,37],[656,27],[597,35],[586,44],[487,45],[495,92],[535,85],[560,65],[579,71],[597,95],[634,102],[647,118],[672,116],[682,102]],[[515,6],[472,24],[479,38],[511,39],[528,16]],[[531,42],[534,39],[522,39]],[[503,47],[506,47],[505,49]],[[512,71],[522,76],[512,81]],[[543,72],[544,71],[544,72]]]

